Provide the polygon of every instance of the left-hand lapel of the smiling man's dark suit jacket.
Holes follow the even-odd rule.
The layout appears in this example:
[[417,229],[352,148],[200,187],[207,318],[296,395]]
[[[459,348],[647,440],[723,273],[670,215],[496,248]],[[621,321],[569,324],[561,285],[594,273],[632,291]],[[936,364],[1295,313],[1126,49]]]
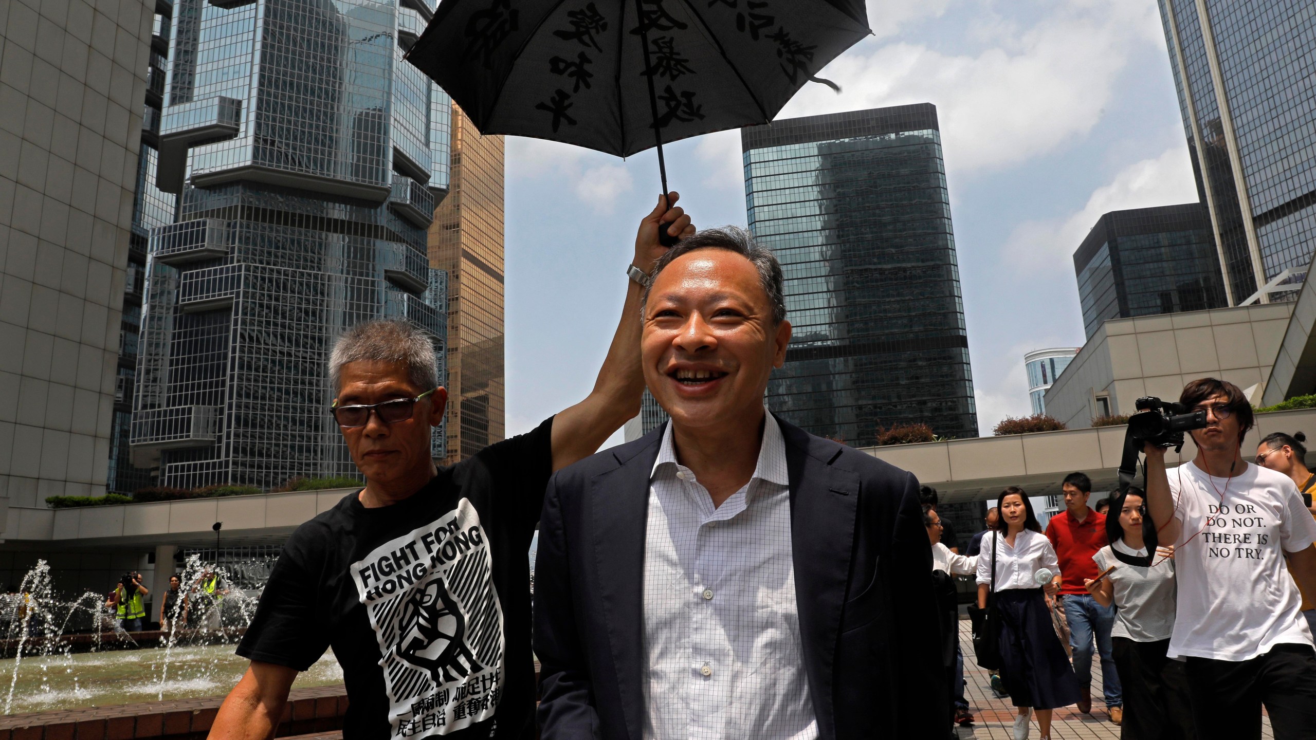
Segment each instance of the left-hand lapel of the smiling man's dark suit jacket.
[[[644,568],[649,477],[665,425],[647,435],[649,445],[613,453],[620,467],[590,481],[594,512],[595,585],[617,672],[626,732],[640,740],[644,718]],[[626,450],[630,452],[630,450]]]

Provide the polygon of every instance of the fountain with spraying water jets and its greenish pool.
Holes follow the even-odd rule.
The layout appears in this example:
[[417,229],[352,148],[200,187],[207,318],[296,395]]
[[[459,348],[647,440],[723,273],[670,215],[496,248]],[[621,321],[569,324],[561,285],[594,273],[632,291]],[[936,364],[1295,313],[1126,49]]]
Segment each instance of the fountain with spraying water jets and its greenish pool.
[[[267,575],[267,564],[228,568],[191,556],[180,579],[184,589],[207,571],[225,583],[250,585]],[[263,571],[263,573],[262,573]],[[259,579],[263,585],[263,578]],[[8,678],[4,714],[107,707],[149,700],[222,697],[237,683],[247,661],[233,653],[255,615],[259,590],[230,589],[217,603],[220,628],[178,628],[129,635],[113,619],[100,594],[75,598],[54,593],[50,566],[38,561],[16,594],[0,595],[0,677]],[[190,596],[196,606],[200,598]],[[175,612],[182,612],[179,599]],[[188,615],[193,623],[203,621]],[[342,683],[332,653],[297,677],[296,689]]]

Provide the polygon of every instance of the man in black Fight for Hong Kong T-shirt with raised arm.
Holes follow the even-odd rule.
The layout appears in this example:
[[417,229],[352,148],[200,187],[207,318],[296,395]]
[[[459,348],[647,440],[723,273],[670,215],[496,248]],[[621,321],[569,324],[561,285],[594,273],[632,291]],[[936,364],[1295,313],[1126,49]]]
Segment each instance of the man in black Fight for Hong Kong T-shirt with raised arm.
[[551,473],[640,412],[640,283],[666,251],[659,229],[695,232],[676,198],[659,198],[641,221],[621,323],[590,396],[457,465],[430,458],[447,391],[428,336],[392,320],[345,332],[326,412],[366,487],[284,545],[238,645],[251,665],[212,739],[272,737],[297,672],[328,648],[350,700],[345,737],[536,736],[526,552]]

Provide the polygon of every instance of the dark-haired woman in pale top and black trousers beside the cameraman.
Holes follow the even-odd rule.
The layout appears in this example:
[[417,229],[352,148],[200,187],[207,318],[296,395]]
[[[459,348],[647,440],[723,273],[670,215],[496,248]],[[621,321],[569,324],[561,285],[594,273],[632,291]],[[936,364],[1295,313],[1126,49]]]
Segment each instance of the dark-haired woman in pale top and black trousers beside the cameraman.
[[1124,685],[1121,740],[1188,740],[1194,732],[1183,661],[1166,657],[1174,629],[1171,548],[1157,548],[1141,489],[1116,496],[1105,517],[1109,545],[1092,556],[1103,571],[1083,585],[1104,607],[1119,608],[1111,643]]

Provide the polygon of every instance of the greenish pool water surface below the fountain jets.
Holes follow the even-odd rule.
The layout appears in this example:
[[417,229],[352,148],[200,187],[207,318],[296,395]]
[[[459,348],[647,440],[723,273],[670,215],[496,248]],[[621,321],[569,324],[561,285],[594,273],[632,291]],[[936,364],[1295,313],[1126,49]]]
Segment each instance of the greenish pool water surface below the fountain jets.
[[[13,702],[7,714],[39,712],[217,697],[228,694],[246,670],[233,645],[174,647],[164,672],[164,648],[26,656],[18,665]],[[14,661],[0,660],[0,677],[13,675]],[[162,682],[163,677],[163,682]],[[297,675],[295,689],[342,683],[342,669],[326,652]],[[0,710],[4,707],[0,706]]]

